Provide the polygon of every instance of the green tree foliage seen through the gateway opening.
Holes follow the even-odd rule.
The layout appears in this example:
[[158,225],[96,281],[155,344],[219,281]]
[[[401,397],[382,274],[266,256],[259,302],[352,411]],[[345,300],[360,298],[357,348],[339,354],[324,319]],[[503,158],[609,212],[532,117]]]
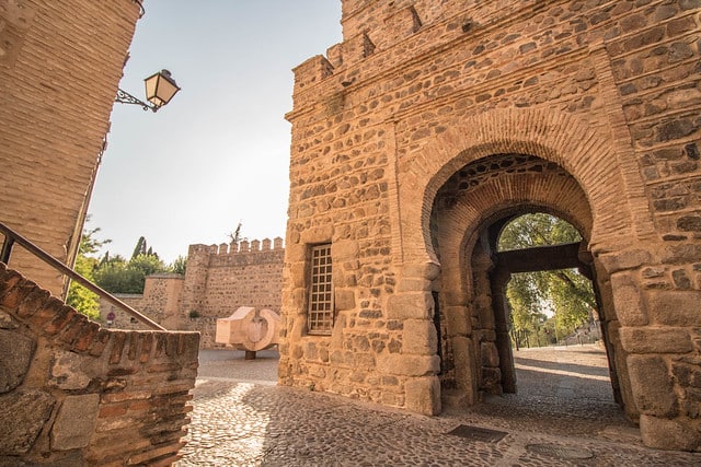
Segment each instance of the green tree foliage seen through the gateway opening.
[[[522,249],[533,246],[581,242],[577,230],[550,214],[521,215],[503,230],[498,249]],[[512,308],[515,337],[528,337],[543,323],[543,312],[554,311],[552,331],[559,336],[572,332],[596,307],[591,282],[574,269],[514,275],[506,289]],[[538,325],[537,325],[538,323]]]

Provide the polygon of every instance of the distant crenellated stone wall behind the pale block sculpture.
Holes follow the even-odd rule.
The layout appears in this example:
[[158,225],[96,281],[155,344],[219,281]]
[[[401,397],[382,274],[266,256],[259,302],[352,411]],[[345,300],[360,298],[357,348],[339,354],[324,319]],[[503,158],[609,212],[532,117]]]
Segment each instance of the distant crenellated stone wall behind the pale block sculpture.
[[[283,240],[242,241],[238,244],[191,245],[185,276],[156,275],[146,278],[143,294],[117,297],[166,329],[200,332],[203,348],[215,342],[217,318],[230,316],[240,306],[272,310],[281,306]],[[116,329],[142,329],[143,325],[106,301],[100,316]]]

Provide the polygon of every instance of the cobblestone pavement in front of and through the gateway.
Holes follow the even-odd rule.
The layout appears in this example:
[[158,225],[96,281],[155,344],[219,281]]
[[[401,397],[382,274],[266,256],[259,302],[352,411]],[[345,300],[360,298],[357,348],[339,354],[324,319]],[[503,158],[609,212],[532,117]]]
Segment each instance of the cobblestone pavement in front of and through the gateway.
[[701,466],[643,446],[595,346],[515,352],[518,395],[424,417],[276,386],[277,353],[200,352],[184,466]]

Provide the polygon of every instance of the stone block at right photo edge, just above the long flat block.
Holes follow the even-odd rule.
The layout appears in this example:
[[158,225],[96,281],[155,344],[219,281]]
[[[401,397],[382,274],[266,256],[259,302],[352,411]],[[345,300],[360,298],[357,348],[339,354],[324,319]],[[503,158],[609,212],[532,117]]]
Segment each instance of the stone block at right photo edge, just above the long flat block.
[[701,291],[653,290],[647,292],[651,323],[667,326],[701,326]]

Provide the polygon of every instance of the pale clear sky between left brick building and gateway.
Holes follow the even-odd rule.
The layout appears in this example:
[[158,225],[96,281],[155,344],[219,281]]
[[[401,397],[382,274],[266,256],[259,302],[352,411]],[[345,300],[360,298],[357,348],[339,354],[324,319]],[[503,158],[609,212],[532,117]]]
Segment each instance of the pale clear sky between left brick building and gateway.
[[119,87],[171,71],[158,113],[115,104],[87,229],[129,257],[165,261],[195,243],[285,237],[292,68],[341,42],[341,0],[146,0]]

